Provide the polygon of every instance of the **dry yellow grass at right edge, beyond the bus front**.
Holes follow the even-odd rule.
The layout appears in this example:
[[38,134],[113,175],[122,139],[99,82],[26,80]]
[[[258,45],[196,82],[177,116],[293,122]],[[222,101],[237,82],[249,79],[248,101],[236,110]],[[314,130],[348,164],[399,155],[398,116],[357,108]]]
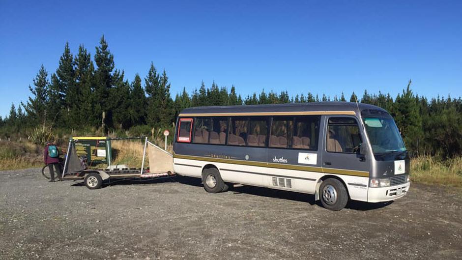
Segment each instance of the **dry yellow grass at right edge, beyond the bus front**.
[[413,158],[411,180],[424,184],[462,187],[462,157],[446,161],[431,156]]

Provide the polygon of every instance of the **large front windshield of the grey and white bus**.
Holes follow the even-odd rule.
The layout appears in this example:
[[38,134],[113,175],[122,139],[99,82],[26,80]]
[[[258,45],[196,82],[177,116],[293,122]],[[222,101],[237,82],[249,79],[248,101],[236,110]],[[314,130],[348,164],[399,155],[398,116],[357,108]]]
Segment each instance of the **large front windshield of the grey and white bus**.
[[374,153],[406,150],[398,127],[392,118],[366,117],[363,120]]

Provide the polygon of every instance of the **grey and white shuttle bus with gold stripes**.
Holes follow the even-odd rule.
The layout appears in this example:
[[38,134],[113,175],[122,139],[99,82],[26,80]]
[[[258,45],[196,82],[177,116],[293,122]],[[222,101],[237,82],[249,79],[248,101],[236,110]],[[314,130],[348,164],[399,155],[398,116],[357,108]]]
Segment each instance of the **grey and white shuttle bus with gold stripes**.
[[207,192],[231,184],[314,194],[330,210],[409,190],[409,156],[385,110],[367,104],[195,107],[176,122],[173,169]]

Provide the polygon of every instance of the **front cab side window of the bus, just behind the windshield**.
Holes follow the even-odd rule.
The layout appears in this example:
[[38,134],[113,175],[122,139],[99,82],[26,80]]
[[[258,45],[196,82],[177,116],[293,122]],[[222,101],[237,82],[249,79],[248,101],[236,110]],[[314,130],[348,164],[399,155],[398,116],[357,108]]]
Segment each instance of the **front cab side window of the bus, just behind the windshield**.
[[327,125],[328,152],[355,153],[361,144],[358,124],[351,117],[331,117]]

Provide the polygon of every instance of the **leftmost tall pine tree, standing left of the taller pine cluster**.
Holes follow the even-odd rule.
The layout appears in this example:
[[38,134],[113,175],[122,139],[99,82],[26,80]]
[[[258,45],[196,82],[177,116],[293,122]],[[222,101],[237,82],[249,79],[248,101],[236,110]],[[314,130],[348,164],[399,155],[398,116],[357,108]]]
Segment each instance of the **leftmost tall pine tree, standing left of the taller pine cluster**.
[[[26,105],[22,106],[26,109],[32,124],[46,123],[48,115],[48,94],[49,94],[49,82],[48,82],[48,72],[45,67],[40,66],[35,79],[33,79],[33,84],[35,87],[30,87],[29,90],[32,93],[32,96],[29,97],[29,101]],[[53,115],[54,117],[55,115]]]

